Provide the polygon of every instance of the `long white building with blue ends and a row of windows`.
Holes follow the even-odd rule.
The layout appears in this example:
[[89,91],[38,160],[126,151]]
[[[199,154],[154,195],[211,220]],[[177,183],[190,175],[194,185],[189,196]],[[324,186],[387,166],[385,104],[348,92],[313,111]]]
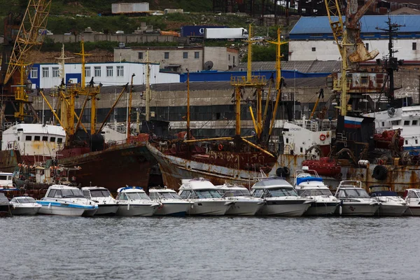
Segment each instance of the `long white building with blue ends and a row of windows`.
[[[134,85],[146,84],[146,63],[139,62],[101,62],[85,64],[85,79],[89,83],[93,78],[94,83],[104,86],[125,85],[131,83],[132,74]],[[150,83],[179,83],[178,73],[165,73],[160,71],[159,64],[150,63]],[[29,73],[32,87],[52,88],[62,83],[61,64],[34,64]],[[65,82],[80,83],[82,79],[82,64],[64,64]]]

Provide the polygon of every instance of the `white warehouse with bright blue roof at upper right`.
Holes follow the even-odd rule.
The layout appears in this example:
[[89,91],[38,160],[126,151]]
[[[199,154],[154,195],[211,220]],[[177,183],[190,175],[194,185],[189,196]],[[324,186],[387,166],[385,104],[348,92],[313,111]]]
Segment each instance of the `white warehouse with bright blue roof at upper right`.
[[[344,19],[343,19],[344,20]],[[388,55],[388,15],[365,15],[360,19],[360,35],[368,50],[379,50],[377,58]],[[420,15],[391,15],[391,23],[401,25],[393,49],[398,59],[420,60]],[[379,29],[377,29],[379,28]],[[339,60],[328,17],[302,17],[290,31],[289,60]]]

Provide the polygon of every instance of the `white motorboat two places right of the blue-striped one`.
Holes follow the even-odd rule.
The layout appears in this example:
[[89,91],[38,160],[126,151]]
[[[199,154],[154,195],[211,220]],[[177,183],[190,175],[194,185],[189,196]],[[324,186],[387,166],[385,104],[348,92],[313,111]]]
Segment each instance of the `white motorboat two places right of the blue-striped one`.
[[119,188],[117,193],[118,216],[153,216],[161,205],[153,202],[140,187]]

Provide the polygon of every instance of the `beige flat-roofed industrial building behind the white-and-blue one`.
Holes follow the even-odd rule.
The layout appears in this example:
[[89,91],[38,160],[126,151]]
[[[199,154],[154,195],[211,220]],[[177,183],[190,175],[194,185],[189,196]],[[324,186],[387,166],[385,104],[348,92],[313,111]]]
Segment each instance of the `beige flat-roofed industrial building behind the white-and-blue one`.
[[227,71],[239,63],[237,48],[227,47],[141,47],[115,48],[114,61],[146,62],[146,52],[150,62],[160,64],[160,68],[177,73],[219,70]]

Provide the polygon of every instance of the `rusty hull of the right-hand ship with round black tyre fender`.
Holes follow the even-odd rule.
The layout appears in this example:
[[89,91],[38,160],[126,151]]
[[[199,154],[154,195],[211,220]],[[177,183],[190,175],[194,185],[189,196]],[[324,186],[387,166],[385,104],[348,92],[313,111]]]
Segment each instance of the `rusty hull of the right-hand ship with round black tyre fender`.
[[[275,176],[276,170],[281,167],[288,167],[290,176],[286,179],[293,184],[295,170],[302,169],[302,162],[308,160],[305,155],[279,155],[276,165],[269,172],[269,176]],[[397,193],[404,193],[407,188],[419,188],[420,186],[420,166],[419,165],[382,165],[386,167],[386,178],[378,180],[373,178],[374,168],[377,165],[367,163],[365,166],[341,165],[338,176],[321,176],[325,185],[332,189],[337,188],[342,180],[361,181],[363,187],[369,190],[370,186],[386,185]]]

